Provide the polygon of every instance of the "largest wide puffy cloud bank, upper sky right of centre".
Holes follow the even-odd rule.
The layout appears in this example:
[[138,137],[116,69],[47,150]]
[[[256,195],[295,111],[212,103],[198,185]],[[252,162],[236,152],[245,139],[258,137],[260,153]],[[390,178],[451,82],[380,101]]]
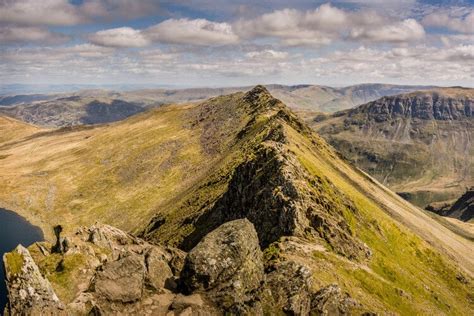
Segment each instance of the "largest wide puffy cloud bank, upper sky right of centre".
[[244,38],[274,37],[285,45],[327,45],[347,34],[353,40],[396,43],[425,36],[423,26],[414,19],[397,21],[375,11],[346,11],[330,4],[307,11],[277,10],[240,20],[234,27]]

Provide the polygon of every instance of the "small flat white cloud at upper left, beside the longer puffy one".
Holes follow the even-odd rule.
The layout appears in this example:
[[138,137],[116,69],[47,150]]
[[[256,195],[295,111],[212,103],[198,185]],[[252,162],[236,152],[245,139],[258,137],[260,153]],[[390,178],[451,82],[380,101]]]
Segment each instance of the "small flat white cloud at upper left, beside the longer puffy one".
[[99,31],[89,36],[91,43],[109,47],[144,47],[150,41],[142,32],[130,27]]

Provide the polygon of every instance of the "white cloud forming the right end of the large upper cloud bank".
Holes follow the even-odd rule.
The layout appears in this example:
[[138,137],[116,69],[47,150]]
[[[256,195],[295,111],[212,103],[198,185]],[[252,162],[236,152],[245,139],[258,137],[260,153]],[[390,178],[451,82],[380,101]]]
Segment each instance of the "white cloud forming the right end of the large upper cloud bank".
[[409,42],[425,37],[425,30],[414,19],[382,25],[379,27],[354,27],[350,37],[374,42]]

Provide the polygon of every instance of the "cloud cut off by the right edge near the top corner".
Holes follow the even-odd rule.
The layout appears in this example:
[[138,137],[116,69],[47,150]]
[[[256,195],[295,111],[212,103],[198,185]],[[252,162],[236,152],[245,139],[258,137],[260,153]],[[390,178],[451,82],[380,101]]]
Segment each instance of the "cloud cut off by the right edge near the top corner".
[[474,10],[462,16],[446,12],[434,12],[425,16],[422,22],[426,26],[445,27],[460,33],[474,34]]

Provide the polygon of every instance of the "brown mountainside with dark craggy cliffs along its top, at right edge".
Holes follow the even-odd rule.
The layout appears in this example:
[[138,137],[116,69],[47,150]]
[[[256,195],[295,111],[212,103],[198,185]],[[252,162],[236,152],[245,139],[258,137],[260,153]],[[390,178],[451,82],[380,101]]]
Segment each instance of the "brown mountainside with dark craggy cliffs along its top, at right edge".
[[474,90],[384,97],[312,122],[358,167],[419,206],[473,184]]

